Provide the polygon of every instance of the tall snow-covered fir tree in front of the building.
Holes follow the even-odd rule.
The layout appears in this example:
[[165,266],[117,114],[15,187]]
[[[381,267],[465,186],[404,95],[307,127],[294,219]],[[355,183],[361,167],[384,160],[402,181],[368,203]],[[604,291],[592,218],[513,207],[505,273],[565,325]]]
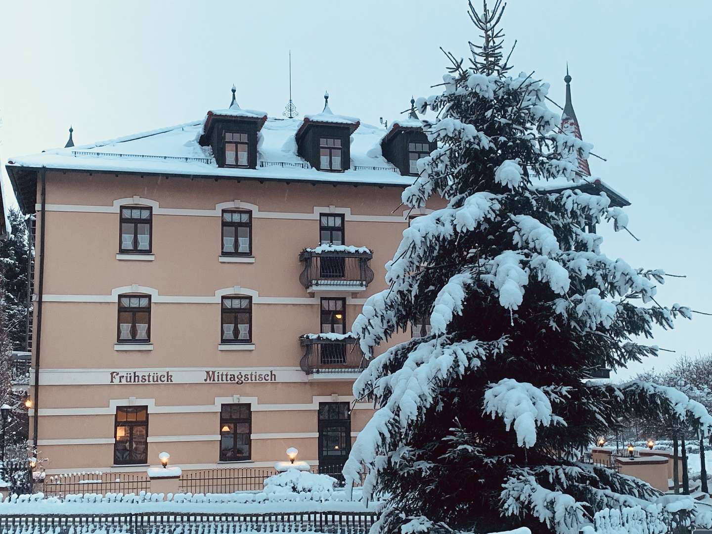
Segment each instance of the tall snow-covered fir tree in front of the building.
[[631,414],[710,429],[706,409],[671,387],[587,380],[656,355],[637,340],[691,310],[658,303],[663,271],[602,253],[590,223],[627,226],[605,194],[536,191],[580,182],[591,146],[558,130],[548,84],[509,72],[501,11],[470,5],[482,43],[468,63],[449,54],[442,93],[417,101],[436,113],[425,130],[438,149],[402,200],[446,207],[403,232],[389,288],[352,330],[367,355],[421,318],[431,333],[373,358],[355,382],[379,409],[344,474],[354,481],[365,466],[365,494],[388,496],[375,532],[577,533],[619,516],[665,532],[683,512],[656,503],[659,491],[577,459]]

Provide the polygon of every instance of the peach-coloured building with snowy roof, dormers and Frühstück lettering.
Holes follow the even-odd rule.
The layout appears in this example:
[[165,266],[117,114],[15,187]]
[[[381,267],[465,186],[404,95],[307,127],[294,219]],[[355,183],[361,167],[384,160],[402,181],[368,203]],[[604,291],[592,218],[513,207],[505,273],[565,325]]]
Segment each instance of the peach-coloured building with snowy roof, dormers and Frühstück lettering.
[[[48,473],[299,459],[340,471],[372,414],[349,329],[384,288],[433,148],[321,112],[203,120],[14,158],[36,214],[31,440]],[[70,132],[71,133],[71,132]],[[419,325],[416,330],[426,330]],[[411,335],[403,333],[399,339]]]

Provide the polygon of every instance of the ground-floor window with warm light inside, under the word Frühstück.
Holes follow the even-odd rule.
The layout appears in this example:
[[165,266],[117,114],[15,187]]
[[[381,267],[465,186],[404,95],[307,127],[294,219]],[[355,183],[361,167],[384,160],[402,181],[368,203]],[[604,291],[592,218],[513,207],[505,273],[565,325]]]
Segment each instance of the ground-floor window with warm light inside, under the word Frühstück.
[[120,406],[114,420],[114,464],[147,464],[148,407]]

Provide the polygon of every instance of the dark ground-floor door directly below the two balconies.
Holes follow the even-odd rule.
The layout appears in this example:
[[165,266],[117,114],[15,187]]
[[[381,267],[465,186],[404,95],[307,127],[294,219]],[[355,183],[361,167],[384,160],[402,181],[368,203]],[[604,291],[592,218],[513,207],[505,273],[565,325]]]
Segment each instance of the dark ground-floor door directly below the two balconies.
[[341,470],[351,451],[348,402],[319,403],[319,472],[342,480]]

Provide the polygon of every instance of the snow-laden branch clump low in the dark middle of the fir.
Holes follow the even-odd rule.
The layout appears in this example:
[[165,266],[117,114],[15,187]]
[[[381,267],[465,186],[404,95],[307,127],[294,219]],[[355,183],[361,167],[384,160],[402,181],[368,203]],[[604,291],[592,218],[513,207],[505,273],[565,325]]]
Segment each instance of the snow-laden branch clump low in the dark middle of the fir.
[[536,427],[549,426],[552,409],[549,399],[528,382],[505,378],[490,384],[485,392],[485,413],[502,417],[507,430],[514,422],[517,444],[531,447],[536,443]]

